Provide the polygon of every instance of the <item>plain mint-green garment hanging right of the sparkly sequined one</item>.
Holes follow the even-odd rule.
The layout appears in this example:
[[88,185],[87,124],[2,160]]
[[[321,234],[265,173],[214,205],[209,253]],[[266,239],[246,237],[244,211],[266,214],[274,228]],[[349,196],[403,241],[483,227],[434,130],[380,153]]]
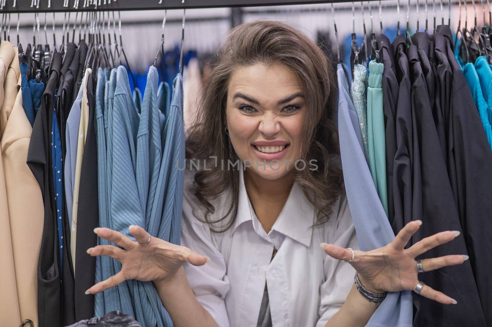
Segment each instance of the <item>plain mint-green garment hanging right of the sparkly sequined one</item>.
[[377,194],[388,216],[388,191],[386,184],[386,139],[383,114],[384,65],[374,60],[369,62],[368,82],[368,148],[369,169]]

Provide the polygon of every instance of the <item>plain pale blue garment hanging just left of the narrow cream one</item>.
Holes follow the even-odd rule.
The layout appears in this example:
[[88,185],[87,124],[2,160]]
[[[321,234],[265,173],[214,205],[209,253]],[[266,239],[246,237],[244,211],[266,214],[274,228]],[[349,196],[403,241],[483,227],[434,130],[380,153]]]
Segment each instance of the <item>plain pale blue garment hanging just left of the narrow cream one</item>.
[[82,89],[84,85],[84,79],[79,88],[77,98],[73,102],[72,108],[68,113],[66,119],[65,128],[65,167],[63,171],[63,179],[65,184],[65,202],[66,210],[68,212],[68,221],[70,227],[72,227],[72,208],[73,208],[73,190],[75,181],[75,162],[77,161],[77,146],[79,139],[79,125],[80,125],[80,108],[82,104]]

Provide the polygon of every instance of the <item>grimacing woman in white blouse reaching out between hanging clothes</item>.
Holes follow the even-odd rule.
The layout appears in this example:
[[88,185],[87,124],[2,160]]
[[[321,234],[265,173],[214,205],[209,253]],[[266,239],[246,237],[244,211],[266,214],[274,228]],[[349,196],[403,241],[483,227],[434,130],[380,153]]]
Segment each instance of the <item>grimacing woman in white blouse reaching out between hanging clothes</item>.
[[[323,52],[292,27],[234,28],[217,52],[187,140],[188,158],[201,166],[185,168],[182,246],[138,226],[129,227],[136,242],[96,228],[124,250],[98,245],[88,253],[123,268],[88,293],[125,279],[154,281],[175,326],[185,327],[365,326],[385,292],[400,290],[456,303],[419,284],[415,257],[459,233],[405,249],[422,224],[415,220],[382,248],[353,250],[333,76]],[[426,259],[419,268],[466,259]]]

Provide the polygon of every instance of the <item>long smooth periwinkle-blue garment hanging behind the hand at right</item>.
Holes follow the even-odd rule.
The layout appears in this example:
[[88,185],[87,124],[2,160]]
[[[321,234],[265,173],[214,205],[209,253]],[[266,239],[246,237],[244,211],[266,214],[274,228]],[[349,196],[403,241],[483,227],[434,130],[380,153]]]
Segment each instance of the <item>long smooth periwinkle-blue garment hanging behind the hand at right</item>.
[[[363,251],[390,243],[395,234],[369,171],[359,128],[359,118],[352,104],[348,82],[339,64],[338,75],[338,133],[345,191],[350,213]],[[366,327],[411,327],[413,301],[410,291],[388,293]]]

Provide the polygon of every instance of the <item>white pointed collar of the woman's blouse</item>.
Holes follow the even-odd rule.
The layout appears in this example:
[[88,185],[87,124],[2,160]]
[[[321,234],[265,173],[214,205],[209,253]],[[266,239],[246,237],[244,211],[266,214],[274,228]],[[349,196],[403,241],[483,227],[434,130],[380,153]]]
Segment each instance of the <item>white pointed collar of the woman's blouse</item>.
[[[253,219],[258,218],[249,201],[244,182],[244,170],[242,165],[240,165],[238,213],[232,226],[232,232],[234,233],[236,228],[242,223]],[[294,183],[277,221],[272,226],[272,231],[277,231],[299,243],[310,246],[311,226],[313,224],[314,208],[307,200],[302,187]]]

